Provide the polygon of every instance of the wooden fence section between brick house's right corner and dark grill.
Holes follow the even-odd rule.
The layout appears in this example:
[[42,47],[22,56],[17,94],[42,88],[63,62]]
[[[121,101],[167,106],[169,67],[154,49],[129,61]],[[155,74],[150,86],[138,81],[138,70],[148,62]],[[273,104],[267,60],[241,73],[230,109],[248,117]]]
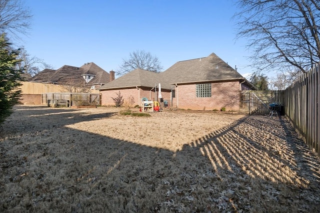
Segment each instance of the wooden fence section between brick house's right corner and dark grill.
[[249,114],[265,114],[269,113],[269,104],[284,103],[283,91],[257,91],[244,90],[240,91],[240,106],[239,111]]

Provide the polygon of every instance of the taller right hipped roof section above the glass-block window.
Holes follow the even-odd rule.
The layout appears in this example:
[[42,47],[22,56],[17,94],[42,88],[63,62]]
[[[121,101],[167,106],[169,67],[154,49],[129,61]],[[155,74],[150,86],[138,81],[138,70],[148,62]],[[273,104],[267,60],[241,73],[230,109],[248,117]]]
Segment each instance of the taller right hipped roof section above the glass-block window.
[[179,61],[162,73],[171,84],[244,79],[214,53],[204,58]]

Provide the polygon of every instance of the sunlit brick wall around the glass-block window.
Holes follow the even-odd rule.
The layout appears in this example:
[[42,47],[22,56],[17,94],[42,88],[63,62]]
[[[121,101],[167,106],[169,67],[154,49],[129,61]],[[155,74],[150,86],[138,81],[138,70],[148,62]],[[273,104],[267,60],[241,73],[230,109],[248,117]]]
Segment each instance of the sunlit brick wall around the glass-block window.
[[195,84],[179,85],[175,90],[177,107],[191,110],[239,110],[239,82],[221,82],[211,84],[211,97],[196,97]]

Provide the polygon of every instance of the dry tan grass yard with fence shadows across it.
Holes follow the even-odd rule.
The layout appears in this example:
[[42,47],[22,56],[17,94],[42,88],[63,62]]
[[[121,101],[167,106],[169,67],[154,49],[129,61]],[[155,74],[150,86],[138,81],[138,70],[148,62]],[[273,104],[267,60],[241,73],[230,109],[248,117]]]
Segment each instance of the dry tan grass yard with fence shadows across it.
[[0,212],[320,212],[320,163],[285,117],[17,105]]

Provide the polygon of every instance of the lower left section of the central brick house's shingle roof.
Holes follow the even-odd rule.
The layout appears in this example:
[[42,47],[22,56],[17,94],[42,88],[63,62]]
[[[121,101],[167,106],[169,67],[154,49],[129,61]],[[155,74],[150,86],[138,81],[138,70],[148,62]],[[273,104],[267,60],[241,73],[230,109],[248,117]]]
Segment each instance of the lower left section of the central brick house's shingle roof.
[[121,77],[104,84],[99,87],[98,90],[103,89],[119,89],[119,88],[132,88],[132,87],[155,87],[158,86],[158,83],[161,83],[161,88],[170,89],[169,84],[162,84],[159,73],[151,72],[144,69],[135,69],[131,72],[128,72]]

